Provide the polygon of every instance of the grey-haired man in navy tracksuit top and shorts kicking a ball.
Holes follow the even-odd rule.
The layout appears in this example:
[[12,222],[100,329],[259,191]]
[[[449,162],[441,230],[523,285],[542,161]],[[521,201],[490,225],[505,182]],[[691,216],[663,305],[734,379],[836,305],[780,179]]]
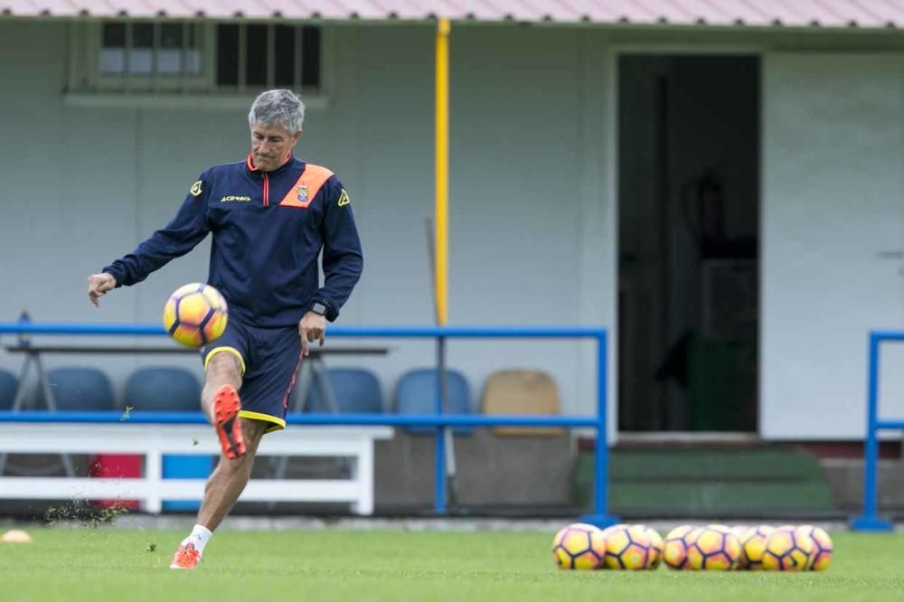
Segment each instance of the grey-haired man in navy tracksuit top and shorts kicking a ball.
[[163,230],[88,278],[97,306],[108,291],[141,282],[213,235],[208,284],[225,296],[230,319],[222,336],[202,348],[201,405],[222,456],[171,569],[193,569],[201,560],[248,483],[260,438],[286,426],[288,395],[308,343],[324,344],[326,321],[335,320],[361,276],[361,243],[342,183],[292,154],[304,118],[305,105],[291,91],[262,93],[248,116],[248,157],[201,174]]

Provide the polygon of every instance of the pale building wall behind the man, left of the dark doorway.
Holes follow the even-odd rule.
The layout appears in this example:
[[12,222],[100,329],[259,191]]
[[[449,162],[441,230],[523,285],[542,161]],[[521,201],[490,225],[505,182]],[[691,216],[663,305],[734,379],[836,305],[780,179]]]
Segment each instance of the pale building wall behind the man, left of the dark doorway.
[[[204,168],[244,157],[244,112],[71,107],[62,95],[66,36],[56,22],[0,23],[0,274],[7,284],[0,320],[28,308],[39,321],[152,323],[175,287],[204,279],[206,242],[140,286],[103,298],[99,310],[87,301],[85,279],[162,226]],[[550,30],[540,44],[536,32],[520,28],[454,33],[452,324],[615,323],[599,39]],[[327,108],[308,112],[299,155],[342,177],[362,234],[363,280],[339,324],[430,324],[424,220],[433,212],[433,33],[342,27],[336,40],[334,92]],[[391,353],[329,364],[370,366],[387,393],[401,372],[434,361],[430,343],[362,343],[389,345]],[[533,367],[553,374],[565,411],[592,411],[595,353],[587,343],[454,342],[450,349],[450,365],[466,373],[476,397],[489,372]],[[19,361],[0,354],[0,366],[15,370]],[[48,361],[86,362],[118,384],[152,362],[183,363],[200,375],[189,357]]]

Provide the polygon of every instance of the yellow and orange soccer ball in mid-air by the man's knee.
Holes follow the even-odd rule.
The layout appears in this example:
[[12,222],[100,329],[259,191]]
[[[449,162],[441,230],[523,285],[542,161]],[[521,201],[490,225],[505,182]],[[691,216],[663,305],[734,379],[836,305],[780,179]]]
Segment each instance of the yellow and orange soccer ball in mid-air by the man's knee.
[[176,343],[201,347],[221,337],[229,320],[226,299],[202,282],[179,287],[164,306],[164,328]]

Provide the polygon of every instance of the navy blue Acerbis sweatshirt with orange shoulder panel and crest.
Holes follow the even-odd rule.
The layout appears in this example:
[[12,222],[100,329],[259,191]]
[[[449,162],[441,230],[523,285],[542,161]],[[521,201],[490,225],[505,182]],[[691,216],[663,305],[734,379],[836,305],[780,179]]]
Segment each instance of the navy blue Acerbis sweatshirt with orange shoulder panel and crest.
[[[352,206],[339,179],[295,157],[261,172],[250,155],[201,174],[172,221],[104,268],[117,287],[144,280],[213,234],[207,282],[250,325],[297,325],[320,301],[331,322],[361,277]],[[324,286],[317,256],[323,249]]]

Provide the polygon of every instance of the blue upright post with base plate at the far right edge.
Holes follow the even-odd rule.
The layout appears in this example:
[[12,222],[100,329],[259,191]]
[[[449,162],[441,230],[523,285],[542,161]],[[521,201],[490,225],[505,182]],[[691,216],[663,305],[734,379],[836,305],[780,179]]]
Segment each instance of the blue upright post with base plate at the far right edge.
[[863,514],[851,522],[854,531],[891,531],[890,521],[876,513],[879,478],[879,334],[870,333],[870,353],[867,364],[866,447],[863,466]]

